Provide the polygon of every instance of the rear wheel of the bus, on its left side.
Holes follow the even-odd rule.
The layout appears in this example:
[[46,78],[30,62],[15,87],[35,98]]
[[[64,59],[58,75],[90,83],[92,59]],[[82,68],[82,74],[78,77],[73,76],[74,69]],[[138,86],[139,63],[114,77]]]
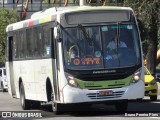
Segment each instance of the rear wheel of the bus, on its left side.
[[20,85],[20,102],[23,110],[29,110],[31,108],[31,102],[25,98],[23,83]]

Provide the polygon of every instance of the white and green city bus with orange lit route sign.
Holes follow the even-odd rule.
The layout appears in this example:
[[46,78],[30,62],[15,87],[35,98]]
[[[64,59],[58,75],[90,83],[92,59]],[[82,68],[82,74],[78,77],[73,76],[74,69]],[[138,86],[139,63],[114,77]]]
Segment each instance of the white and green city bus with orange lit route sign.
[[56,114],[95,103],[126,111],[130,100],[144,97],[140,33],[131,8],[50,8],[6,32],[8,91],[24,110],[51,102]]

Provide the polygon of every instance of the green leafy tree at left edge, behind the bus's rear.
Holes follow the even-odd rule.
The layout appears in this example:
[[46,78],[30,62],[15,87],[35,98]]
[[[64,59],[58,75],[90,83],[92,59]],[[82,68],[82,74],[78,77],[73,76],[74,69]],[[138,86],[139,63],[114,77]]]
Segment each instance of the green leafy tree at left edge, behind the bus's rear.
[[5,63],[6,27],[17,21],[18,17],[15,11],[0,9],[0,66]]

